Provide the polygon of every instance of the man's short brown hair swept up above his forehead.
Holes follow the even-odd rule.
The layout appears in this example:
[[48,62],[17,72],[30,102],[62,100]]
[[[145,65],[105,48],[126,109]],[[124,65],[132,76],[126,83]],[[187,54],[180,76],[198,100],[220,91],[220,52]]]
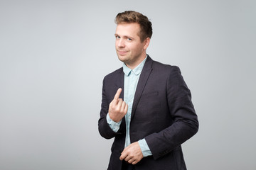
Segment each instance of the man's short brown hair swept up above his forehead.
[[139,38],[143,42],[146,38],[151,38],[152,36],[152,23],[149,19],[142,13],[136,11],[124,11],[118,13],[114,19],[114,23],[139,23],[141,28],[139,33]]

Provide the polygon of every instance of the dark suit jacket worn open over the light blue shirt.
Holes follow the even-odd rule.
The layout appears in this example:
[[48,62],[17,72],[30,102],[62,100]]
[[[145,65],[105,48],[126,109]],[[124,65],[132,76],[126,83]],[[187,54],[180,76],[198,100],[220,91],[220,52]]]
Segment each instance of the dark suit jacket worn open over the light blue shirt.
[[[124,89],[122,68],[103,80],[102,108],[98,122],[102,137],[114,137],[108,169],[121,170],[120,153],[124,149],[125,120],[118,132],[107,124],[106,115],[117,89]],[[124,89],[125,90],[125,89]],[[120,95],[123,98],[123,91]],[[191,92],[180,69],[147,58],[139,77],[132,106],[131,143],[145,138],[152,156],[144,157],[136,169],[186,169],[181,144],[196,134],[198,119],[191,102]]]

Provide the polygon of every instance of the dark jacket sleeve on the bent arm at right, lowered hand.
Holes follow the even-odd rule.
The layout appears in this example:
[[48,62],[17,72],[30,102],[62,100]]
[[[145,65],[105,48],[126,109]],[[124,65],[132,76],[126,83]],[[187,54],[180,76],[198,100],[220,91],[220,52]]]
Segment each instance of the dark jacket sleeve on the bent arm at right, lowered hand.
[[166,81],[166,96],[173,123],[160,132],[145,137],[154,159],[168,154],[198,131],[198,118],[178,67],[171,67]]

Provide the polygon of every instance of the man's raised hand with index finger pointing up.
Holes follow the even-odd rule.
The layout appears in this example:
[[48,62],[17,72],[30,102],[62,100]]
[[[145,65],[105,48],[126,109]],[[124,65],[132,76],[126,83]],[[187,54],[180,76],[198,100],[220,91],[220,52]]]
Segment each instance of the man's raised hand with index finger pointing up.
[[109,108],[110,118],[116,123],[122,120],[128,111],[127,103],[125,103],[122,98],[119,98],[121,91],[121,88],[117,90],[117,94],[114,95],[114,99],[111,101]]

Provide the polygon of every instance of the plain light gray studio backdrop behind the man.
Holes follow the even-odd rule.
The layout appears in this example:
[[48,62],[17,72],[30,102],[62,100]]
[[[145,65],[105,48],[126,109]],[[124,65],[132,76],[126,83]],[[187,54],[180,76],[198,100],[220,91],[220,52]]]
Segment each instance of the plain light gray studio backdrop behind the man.
[[0,169],[107,168],[97,120],[125,10],[149,17],[148,54],[192,91],[188,169],[256,169],[255,1],[149,0],[0,1]]

